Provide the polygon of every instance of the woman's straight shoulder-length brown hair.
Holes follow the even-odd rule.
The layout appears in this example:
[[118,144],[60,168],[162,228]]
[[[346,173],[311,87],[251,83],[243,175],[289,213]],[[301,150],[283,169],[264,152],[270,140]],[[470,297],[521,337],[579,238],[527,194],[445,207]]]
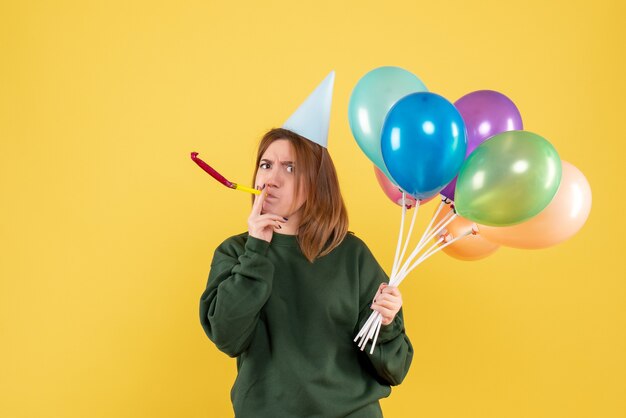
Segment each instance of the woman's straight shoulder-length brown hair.
[[[326,148],[295,132],[276,128],[261,138],[252,184],[256,180],[261,157],[270,144],[279,139],[289,141],[295,152],[294,196],[306,193],[298,229],[298,244],[304,256],[313,262],[330,253],[348,232],[348,212],[339,190],[337,172]],[[252,199],[254,202],[254,196]]]

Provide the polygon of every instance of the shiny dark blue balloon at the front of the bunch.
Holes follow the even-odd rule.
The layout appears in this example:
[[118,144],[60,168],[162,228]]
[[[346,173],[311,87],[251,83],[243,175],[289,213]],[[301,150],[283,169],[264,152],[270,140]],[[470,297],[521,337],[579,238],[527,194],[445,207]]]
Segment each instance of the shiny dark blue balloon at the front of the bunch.
[[417,199],[428,199],[454,179],[465,160],[465,123],[440,95],[412,93],[387,113],[381,148],[398,186]]

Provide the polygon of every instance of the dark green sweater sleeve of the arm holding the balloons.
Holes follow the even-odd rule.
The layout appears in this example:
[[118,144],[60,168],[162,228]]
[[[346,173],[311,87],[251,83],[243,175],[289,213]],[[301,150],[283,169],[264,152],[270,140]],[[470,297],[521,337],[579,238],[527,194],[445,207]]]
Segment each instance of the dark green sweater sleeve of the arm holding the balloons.
[[[389,278],[380,267],[369,249],[360,261],[361,274],[361,296],[360,314],[358,327],[355,335],[365,324],[370,314],[372,299],[378,290],[380,283],[388,283]],[[371,343],[369,341],[363,351],[358,346],[355,347],[361,355],[367,357],[377,376],[391,386],[402,383],[411,366],[413,360],[413,346],[406,335],[404,327],[404,315],[402,309],[398,312],[393,322],[389,325],[382,325],[376,340],[374,353],[370,354]]]

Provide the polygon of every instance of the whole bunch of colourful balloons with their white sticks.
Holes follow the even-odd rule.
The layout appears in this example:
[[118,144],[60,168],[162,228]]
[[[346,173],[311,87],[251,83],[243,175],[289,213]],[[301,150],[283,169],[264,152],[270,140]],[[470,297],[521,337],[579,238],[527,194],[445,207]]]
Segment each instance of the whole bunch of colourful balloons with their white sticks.
[[[402,207],[392,286],[438,251],[478,260],[500,245],[558,244],[582,228],[591,210],[585,176],[545,138],[523,130],[515,104],[496,91],[475,91],[452,104],[412,73],[380,67],[355,86],[348,119],[379,185]],[[438,195],[430,224],[402,261],[419,206]],[[372,340],[373,353],[380,327],[380,314],[372,312],[354,339],[361,350]]]

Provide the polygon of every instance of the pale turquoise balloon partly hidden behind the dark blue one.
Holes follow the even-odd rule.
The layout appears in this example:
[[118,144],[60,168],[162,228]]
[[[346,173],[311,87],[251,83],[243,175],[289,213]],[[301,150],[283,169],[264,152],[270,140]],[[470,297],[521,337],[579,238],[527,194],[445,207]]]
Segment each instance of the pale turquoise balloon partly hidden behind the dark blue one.
[[394,181],[383,161],[380,135],[389,109],[410,93],[428,91],[414,74],[400,67],[379,67],[365,74],[352,90],[348,121],[357,144]]

